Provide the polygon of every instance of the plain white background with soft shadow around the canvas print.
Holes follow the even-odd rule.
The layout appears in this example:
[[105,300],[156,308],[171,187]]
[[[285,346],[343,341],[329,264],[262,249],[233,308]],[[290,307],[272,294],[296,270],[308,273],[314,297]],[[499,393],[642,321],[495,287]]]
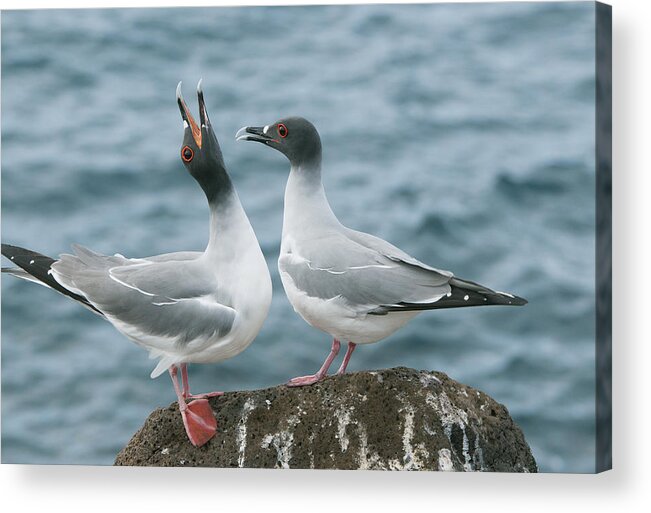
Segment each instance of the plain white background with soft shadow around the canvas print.
[[[245,5],[350,3],[243,2]],[[402,3],[399,0],[390,3]],[[591,475],[441,474],[3,465],[4,511],[438,512],[651,511],[647,394],[651,219],[651,21],[648,0],[614,10],[614,462]],[[56,7],[241,5],[234,1],[56,2]],[[52,7],[0,0],[0,8]],[[4,412],[10,415],[11,412]]]

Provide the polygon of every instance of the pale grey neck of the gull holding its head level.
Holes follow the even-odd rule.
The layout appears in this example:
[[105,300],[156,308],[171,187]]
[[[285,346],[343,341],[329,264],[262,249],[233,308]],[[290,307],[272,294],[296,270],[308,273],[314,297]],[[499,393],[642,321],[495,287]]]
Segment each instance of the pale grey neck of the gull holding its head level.
[[292,164],[285,188],[283,235],[341,226],[321,182],[321,162]]

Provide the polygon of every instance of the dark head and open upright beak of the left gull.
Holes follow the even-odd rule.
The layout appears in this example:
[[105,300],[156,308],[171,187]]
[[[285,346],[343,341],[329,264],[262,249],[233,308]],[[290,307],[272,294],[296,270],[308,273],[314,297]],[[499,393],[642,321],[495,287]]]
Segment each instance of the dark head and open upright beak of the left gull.
[[181,82],[179,82],[176,88],[176,101],[179,104],[185,127],[181,160],[192,177],[199,182],[206,193],[208,202],[213,203],[224,194],[230,193],[233,186],[226,172],[222,150],[208,118],[201,80],[197,85],[197,97],[199,99],[199,125],[183,100]]

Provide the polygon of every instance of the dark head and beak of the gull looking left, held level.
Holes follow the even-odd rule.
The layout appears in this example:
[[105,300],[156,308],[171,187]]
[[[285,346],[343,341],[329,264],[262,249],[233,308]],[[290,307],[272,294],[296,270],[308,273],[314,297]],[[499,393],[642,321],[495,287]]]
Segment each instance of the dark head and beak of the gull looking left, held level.
[[319,132],[305,118],[283,118],[265,127],[247,126],[237,132],[236,138],[266,144],[283,153],[292,166],[321,163]]

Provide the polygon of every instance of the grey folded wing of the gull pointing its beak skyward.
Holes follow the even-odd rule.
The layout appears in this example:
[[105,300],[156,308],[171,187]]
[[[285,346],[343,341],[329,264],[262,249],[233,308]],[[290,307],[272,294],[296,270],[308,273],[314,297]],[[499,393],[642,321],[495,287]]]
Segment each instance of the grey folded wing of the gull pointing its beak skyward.
[[55,279],[136,341],[165,350],[226,335],[233,325],[230,298],[196,258],[156,262],[73,249],[52,265]]

